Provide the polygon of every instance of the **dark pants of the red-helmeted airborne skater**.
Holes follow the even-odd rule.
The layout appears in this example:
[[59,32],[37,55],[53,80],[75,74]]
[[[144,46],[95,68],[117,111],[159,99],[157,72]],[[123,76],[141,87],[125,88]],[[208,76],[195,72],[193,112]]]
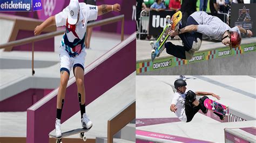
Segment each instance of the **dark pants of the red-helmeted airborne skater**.
[[[187,18],[186,26],[187,25],[198,25],[196,20],[194,20],[193,17],[189,16]],[[182,26],[185,27],[185,26]],[[182,28],[181,26],[179,28]],[[186,54],[185,51],[190,51],[190,49],[193,46],[193,42],[197,42],[197,38],[200,40],[202,39],[202,34],[198,32],[186,32],[179,34],[180,39],[183,41],[184,46],[180,45],[174,45],[172,42],[166,42],[165,43],[165,48],[166,48],[166,53],[176,56],[177,58],[180,59],[186,59]]]

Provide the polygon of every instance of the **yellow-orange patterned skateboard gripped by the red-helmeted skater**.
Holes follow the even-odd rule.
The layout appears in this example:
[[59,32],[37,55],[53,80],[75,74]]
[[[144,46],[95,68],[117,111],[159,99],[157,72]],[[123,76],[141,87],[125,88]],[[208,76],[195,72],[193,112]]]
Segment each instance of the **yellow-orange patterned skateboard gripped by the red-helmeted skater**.
[[178,11],[176,13],[174,13],[174,15],[172,16],[166,16],[166,22],[167,25],[164,28],[164,31],[160,34],[159,38],[157,39],[156,43],[154,43],[153,41],[150,41],[150,45],[151,45],[151,60],[154,61],[154,58],[156,58],[156,56],[160,56],[161,52],[163,52],[164,48],[163,45],[165,44],[166,40],[169,37],[169,31],[170,28],[171,30],[177,31],[178,30],[178,24],[180,22],[182,18],[182,13],[181,11]]

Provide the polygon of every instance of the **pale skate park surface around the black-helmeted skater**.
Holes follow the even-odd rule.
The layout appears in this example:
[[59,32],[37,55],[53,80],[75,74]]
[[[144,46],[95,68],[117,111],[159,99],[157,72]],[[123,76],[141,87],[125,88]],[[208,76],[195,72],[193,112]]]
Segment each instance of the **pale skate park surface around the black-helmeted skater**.
[[[187,90],[213,92],[228,105],[225,122],[197,113],[190,123],[170,111],[173,82],[179,76],[136,76],[136,140],[138,142],[224,142],[224,128],[256,126],[256,80],[253,76],[186,76]],[[208,96],[214,99],[212,96]],[[235,112],[234,112],[235,111]],[[208,111],[209,113],[209,111]],[[246,118],[238,119],[239,117]],[[254,135],[252,135],[254,141]]]

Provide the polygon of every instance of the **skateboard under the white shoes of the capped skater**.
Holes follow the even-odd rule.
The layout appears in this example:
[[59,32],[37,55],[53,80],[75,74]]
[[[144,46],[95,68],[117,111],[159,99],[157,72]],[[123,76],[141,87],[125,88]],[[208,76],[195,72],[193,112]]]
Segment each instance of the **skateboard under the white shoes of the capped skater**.
[[62,137],[55,137],[55,133],[49,133],[49,136],[52,137],[52,138],[55,138],[56,139],[56,143],[62,143],[62,138],[65,138],[65,137],[69,137],[70,135],[73,135],[73,134],[78,134],[79,133],[79,137],[81,139],[83,139],[84,141],[86,141],[86,136],[84,133],[88,132],[90,130],[87,129],[87,128],[77,128],[75,130],[71,130],[71,131],[67,131],[67,132],[64,132],[62,133]]

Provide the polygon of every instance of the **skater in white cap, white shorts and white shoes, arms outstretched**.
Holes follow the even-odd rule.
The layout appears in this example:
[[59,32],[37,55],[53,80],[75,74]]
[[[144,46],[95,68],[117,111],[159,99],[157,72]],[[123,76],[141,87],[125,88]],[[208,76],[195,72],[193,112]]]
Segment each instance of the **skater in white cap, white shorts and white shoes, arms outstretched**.
[[[76,77],[78,100],[81,112],[82,127],[90,128],[92,121],[85,113],[85,88],[84,88],[84,62],[86,25],[89,20],[97,19],[97,16],[110,11],[120,11],[120,5],[87,5],[79,3],[78,0],[71,0],[69,5],[55,16],[46,19],[41,25],[35,28],[35,35],[40,34],[44,28],[51,25],[66,26],[63,34],[60,51],[60,85],[57,95],[57,118],[55,123],[56,137],[61,137],[60,117],[64,104],[66,86],[69,81],[70,70]],[[75,97],[74,97],[75,98]]]

